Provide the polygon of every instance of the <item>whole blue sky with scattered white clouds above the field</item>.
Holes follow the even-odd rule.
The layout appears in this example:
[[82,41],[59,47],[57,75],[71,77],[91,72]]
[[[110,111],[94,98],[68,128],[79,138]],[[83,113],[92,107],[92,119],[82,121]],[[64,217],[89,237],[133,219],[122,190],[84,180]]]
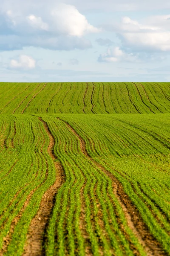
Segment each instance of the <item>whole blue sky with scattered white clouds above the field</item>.
[[169,81],[170,1],[0,0],[0,81]]

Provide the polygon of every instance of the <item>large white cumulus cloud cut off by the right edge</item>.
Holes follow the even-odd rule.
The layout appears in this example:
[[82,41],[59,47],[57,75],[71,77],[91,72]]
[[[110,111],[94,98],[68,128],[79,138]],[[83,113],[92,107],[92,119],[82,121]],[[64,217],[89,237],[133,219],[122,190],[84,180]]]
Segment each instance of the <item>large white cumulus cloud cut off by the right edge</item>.
[[[140,24],[129,17],[122,19],[118,33],[124,46],[137,50],[170,51],[170,17],[156,16]],[[152,21],[152,22],[151,22]]]

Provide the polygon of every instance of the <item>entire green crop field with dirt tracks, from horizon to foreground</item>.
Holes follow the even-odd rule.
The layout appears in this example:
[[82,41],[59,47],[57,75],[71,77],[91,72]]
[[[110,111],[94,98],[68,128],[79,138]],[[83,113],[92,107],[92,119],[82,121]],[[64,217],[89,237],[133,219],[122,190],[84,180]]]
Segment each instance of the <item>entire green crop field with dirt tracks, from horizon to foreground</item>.
[[170,255],[170,84],[0,83],[0,111],[0,256]]

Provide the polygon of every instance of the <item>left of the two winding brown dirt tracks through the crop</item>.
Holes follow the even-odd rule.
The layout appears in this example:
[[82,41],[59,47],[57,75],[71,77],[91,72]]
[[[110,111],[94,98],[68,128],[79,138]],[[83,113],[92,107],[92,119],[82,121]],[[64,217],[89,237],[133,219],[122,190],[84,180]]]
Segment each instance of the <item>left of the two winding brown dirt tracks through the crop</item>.
[[56,157],[53,152],[54,148],[54,137],[51,134],[51,131],[48,129],[46,122],[44,122],[41,118],[40,121],[43,123],[45,131],[48,134],[50,139],[50,143],[48,145],[48,154],[54,160],[54,165],[56,169],[56,181],[55,183],[45,192],[42,196],[40,208],[32,219],[28,237],[26,241],[26,245],[24,247],[23,256],[42,256],[44,255],[44,248],[42,244],[45,240],[45,230],[48,225],[48,221],[51,215],[51,211],[54,207],[55,203],[55,195],[57,193],[58,188],[64,182],[64,170],[61,163],[56,162]]

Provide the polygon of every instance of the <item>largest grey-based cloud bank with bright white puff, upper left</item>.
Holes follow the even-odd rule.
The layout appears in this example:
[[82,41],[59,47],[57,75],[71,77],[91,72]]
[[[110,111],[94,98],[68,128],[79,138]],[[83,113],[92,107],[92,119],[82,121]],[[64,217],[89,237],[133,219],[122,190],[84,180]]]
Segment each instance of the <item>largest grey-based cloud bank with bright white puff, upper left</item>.
[[[100,31],[73,5],[53,1],[48,6],[43,1],[34,6],[31,1],[23,4],[17,0],[17,3],[16,8],[8,1],[0,11],[0,50],[37,47],[37,42],[40,43],[38,46],[48,49],[85,49],[91,47],[91,43],[84,36]],[[6,33],[3,33],[4,28]],[[2,38],[4,34],[14,38],[14,41],[10,41],[10,47],[9,43],[2,42],[3,39],[6,41],[6,38]]]

